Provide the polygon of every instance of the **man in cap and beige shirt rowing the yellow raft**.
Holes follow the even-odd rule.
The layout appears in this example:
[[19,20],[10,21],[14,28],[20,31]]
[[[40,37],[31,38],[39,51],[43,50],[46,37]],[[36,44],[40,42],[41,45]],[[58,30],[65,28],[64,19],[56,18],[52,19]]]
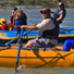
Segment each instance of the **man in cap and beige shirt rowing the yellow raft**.
[[[24,48],[47,48],[47,47],[53,47],[58,44],[58,36],[55,33],[55,24],[53,24],[53,21],[50,16],[50,9],[44,8],[40,11],[42,15],[41,23],[38,23],[37,25],[22,25],[21,28],[27,28],[32,30],[40,30],[40,37],[36,39],[28,40],[27,44],[24,46]],[[59,35],[59,34],[58,34]]]

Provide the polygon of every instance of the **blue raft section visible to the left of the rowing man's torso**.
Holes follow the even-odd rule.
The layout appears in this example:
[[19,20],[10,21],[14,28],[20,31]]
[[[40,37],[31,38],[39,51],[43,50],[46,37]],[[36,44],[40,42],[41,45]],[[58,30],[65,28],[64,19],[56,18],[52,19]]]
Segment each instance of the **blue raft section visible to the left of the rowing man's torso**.
[[[27,32],[27,30],[26,30]],[[29,39],[38,38],[39,37],[39,30],[30,30],[26,35],[23,33],[23,42],[27,42]],[[10,41],[11,39],[17,38],[20,34],[16,30],[0,30],[0,44],[4,44]],[[13,41],[15,44],[17,39]]]

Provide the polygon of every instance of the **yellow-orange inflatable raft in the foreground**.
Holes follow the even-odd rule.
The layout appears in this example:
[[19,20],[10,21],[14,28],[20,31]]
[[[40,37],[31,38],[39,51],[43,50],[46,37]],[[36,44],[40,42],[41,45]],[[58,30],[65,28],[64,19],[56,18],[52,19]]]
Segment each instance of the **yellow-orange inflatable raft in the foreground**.
[[[0,67],[15,67],[17,57],[17,45],[11,48],[0,48]],[[46,48],[22,48],[18,59],[18,66],[24,69],[35,67],[72,67],[74,66],[74,50],[61,51],[62,47],[55,47],[58,50]]]

